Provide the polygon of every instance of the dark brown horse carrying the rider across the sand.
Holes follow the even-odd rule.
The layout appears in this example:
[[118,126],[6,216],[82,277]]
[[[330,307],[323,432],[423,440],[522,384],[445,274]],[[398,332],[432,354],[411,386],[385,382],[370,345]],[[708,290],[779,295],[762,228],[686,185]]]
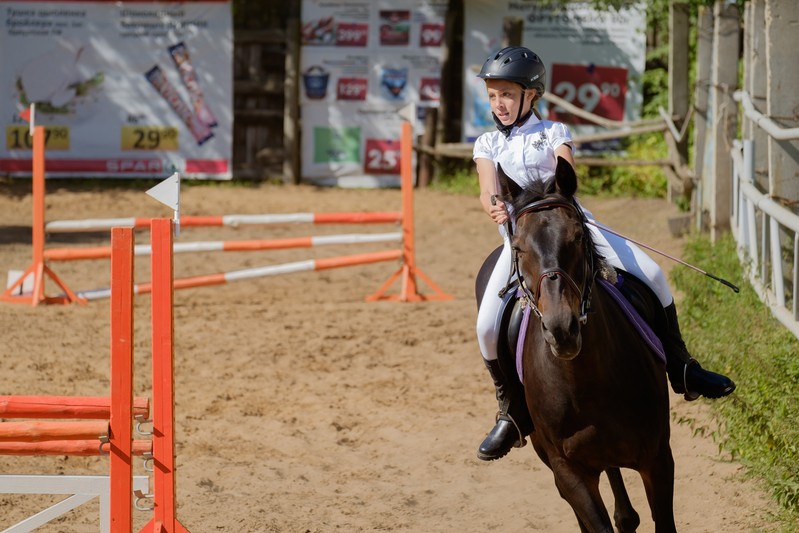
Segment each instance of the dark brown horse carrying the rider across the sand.
[[554,182],[538,191],[521,190],[500,169],[500,185],[514,207],[511,242],[533,310],[520,366],[538,456],[581,531],[613,531],[602,472],[616,527],[638,527],[620,468],[640,473],[656,531],[675,531],[665,365],[600,286],[602,258],[574,202],[574,169],[559,158]]

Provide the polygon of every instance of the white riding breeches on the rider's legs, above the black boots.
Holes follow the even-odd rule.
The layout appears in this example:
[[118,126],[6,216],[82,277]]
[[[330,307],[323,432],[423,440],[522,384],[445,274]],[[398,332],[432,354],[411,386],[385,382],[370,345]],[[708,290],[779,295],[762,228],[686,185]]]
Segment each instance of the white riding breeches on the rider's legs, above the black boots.
[[[588,219],[594,222],[590,212],[584,211]],[[663,307],[672,303],[673,296],[666,276],[651,257],[627,239],[603,231],[592,224],[588,225],[588,229],[591,231],[598,252],[608,264],[625,270],[646,283],[655,292]],[[477,311],[477,342],[480,345],[480,353],[487,361],[497,358],[497,340],[501,320],[499,308],[502,302],[499,298],[499,291],[508,282],[511,267],[510,241],[503,227],[500,227],[500,234],[503,238],[502,253],[491,272],[483,301]]]

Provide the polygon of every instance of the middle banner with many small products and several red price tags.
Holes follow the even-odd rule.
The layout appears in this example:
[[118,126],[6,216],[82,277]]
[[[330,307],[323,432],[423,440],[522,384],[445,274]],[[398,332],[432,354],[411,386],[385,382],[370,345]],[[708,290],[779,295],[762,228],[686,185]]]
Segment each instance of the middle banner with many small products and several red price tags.
[[447,0],[304,0],[302,177],[352,187],[399,184],[397,114],[440,100]]

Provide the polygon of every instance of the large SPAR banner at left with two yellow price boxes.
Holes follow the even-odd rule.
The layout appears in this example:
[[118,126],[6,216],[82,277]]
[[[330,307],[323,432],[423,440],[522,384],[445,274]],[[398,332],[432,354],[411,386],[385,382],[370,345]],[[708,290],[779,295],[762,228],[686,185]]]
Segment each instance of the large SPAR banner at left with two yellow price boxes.
[[48,176],[231,177],[229,0],[0,0],[0,174],[30,175],[35,103]]

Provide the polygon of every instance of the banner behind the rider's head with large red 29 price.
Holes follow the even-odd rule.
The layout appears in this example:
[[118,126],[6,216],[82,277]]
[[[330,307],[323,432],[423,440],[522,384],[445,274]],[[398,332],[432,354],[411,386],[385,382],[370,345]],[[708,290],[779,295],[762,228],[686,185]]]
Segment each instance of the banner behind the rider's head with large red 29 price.
[[[558,10],[532,0],[466,0],[463,140],[473,141],[494,127],[485,83],[476,76],[488,56],[501,48],[506,19],[523,21],[522,45],[544,61],[547,91],[607,119],[640,118],[645,14],[643,4],[597,11],[583,2]],[[559,107],[540,111],[545,118],[569,124],[573,133],[596,129]]]

